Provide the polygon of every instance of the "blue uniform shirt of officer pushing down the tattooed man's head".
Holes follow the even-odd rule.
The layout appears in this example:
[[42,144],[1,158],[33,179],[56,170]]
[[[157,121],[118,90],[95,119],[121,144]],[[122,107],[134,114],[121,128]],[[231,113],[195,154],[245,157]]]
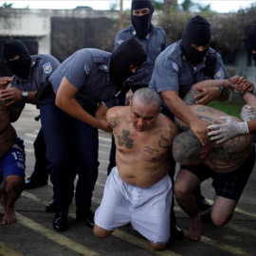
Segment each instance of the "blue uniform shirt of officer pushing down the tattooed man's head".
[[[210,52],[214,52],[212,48]],[[214,68],[214,79],[228,79],[229,75],[222,62],[220,54],[217,53],[217,62]],[[204,75],[206,58],[197,67],[194,67],[182,54],[181,40],[168,46],[155,60],[155,69],[149,87],[157,91],[175,91],[183,99],[192,84],[210,77]],[[160,94],[162,105],[168,109]]]

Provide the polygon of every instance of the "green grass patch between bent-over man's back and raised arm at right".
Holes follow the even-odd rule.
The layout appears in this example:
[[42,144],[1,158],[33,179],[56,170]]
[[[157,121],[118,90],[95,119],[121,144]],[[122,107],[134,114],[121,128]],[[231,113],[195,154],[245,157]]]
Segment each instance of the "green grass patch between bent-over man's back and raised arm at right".
[[245,103],[234,103],[230,101],[211,101],[208,105],[210,107],[221,110],[230,116],[234,116],[240,119],[240,112]]

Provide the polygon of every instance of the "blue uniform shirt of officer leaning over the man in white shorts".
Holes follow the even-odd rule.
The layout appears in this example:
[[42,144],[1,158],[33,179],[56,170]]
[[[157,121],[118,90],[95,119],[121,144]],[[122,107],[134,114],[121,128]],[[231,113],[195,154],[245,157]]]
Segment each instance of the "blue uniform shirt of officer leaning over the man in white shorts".
[[[109,81],[109,64],[111,53],[94,48],[83,48],[69,56],[50,76],[55,94],[65,77],[78,88],[77,101],[104,101],[108,107],[116,105],[113,99],[117,85]],[[111,103],[108,100],[111,100]]]

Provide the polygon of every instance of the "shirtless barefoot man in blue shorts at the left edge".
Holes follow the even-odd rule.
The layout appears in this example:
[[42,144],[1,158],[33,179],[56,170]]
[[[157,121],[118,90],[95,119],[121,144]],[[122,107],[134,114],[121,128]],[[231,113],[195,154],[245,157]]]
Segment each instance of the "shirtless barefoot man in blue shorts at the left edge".
[[[7,85],[8,82],[0,82],[0,89],[6,88]],[[18,119],[19,114],[11,106],[6,106],[5,101],[0,101],[0,179],[3,180],[0,194],[5,204],[3,225],[17,221],[14,204],[24,187],[24,144],[10,124]]]

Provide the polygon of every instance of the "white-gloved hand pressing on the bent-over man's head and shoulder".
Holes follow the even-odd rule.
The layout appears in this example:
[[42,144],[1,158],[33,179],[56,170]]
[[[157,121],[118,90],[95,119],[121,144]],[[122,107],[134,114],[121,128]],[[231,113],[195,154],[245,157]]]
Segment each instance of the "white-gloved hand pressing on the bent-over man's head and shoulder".
[[219,139],[216,141],[217,144],[226,141],[230,137],[236,137],[238,135],[249,133],[246,121],[239,122],[231,117],[220,117],[220,119],[227,120],[227,122],[208,126],[208,129],[218,129],[208,133],[210,140]]

